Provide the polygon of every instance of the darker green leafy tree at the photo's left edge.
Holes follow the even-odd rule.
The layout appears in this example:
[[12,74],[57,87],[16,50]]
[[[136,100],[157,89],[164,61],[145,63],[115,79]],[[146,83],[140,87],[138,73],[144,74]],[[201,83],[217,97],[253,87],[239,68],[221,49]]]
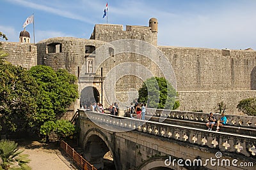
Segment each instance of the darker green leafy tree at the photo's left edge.
[[21,66],[0,63],[0,121],[16,131],[32,126],[35,120],[35,96],[39,91],[35,79]]

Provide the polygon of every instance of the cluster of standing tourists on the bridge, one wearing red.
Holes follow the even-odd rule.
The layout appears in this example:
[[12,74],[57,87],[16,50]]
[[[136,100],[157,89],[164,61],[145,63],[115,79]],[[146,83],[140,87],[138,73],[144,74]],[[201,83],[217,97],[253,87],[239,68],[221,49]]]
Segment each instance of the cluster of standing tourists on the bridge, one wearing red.
[[146,107],[147,107],[147,104],[138,103],[138,101],[136,101],[134,105],[133,103],[131,103],[131,106],[129,107],[130,117],[134,118],[133,114],[136,113],[136,117],[138,119],[145,120]]

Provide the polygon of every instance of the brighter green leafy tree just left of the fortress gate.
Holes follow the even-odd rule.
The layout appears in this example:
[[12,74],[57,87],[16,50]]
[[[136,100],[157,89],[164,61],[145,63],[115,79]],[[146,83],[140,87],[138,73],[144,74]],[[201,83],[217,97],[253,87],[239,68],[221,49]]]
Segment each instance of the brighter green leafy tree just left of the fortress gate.
[[31,67],[29,73],[40,89],[37,97],[37,120],[40,125],[56,120],[78,97],[77,78],[64,69],[54,71],[49,66]]

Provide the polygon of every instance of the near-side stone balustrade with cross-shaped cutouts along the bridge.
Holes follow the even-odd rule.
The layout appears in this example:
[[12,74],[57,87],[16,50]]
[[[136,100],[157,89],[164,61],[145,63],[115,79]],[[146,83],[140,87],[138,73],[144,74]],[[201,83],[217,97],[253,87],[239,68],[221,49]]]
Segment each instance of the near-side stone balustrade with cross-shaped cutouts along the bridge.
[[[150,110],[147,110],[151,113]],[[152,113],[157,114],[154,111]],[[170,113],[169,113],[170,114]],[[189,120],[207,121],[207,114],[172,111],[171,117],[183,117]],[[193,117],[193,119],[192,119]],[[92,111],[79,111],[79,118],[89,118],[95,124],[103,129],[110,131],[138,131],[145,134],[159,136],[170,140],[182,141],[191,145],[200,145],[225,152],[236,152],[246,157],[255,157],[256,155],[256,137],[245,136],[242,134],[230,134],[227,132],[207,131],[193,127],[184,127],[180,125],[164,124],[138,120],[134,118],[116,117]],[[244,119],[243,119],[244,120]],[[230,122],[229,122],[230,123]]]

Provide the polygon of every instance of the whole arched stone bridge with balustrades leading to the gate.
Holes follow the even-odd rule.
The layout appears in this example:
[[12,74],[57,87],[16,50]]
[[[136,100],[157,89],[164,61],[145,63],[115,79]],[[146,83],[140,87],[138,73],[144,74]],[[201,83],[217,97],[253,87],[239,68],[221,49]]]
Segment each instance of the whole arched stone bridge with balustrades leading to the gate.
[[79,110],[83,157],[98,169],[107,152],[118,170],[256,169],[253,117],[227,115],[221,132],[207,131],[205,113],[147,109],[146,118]]

